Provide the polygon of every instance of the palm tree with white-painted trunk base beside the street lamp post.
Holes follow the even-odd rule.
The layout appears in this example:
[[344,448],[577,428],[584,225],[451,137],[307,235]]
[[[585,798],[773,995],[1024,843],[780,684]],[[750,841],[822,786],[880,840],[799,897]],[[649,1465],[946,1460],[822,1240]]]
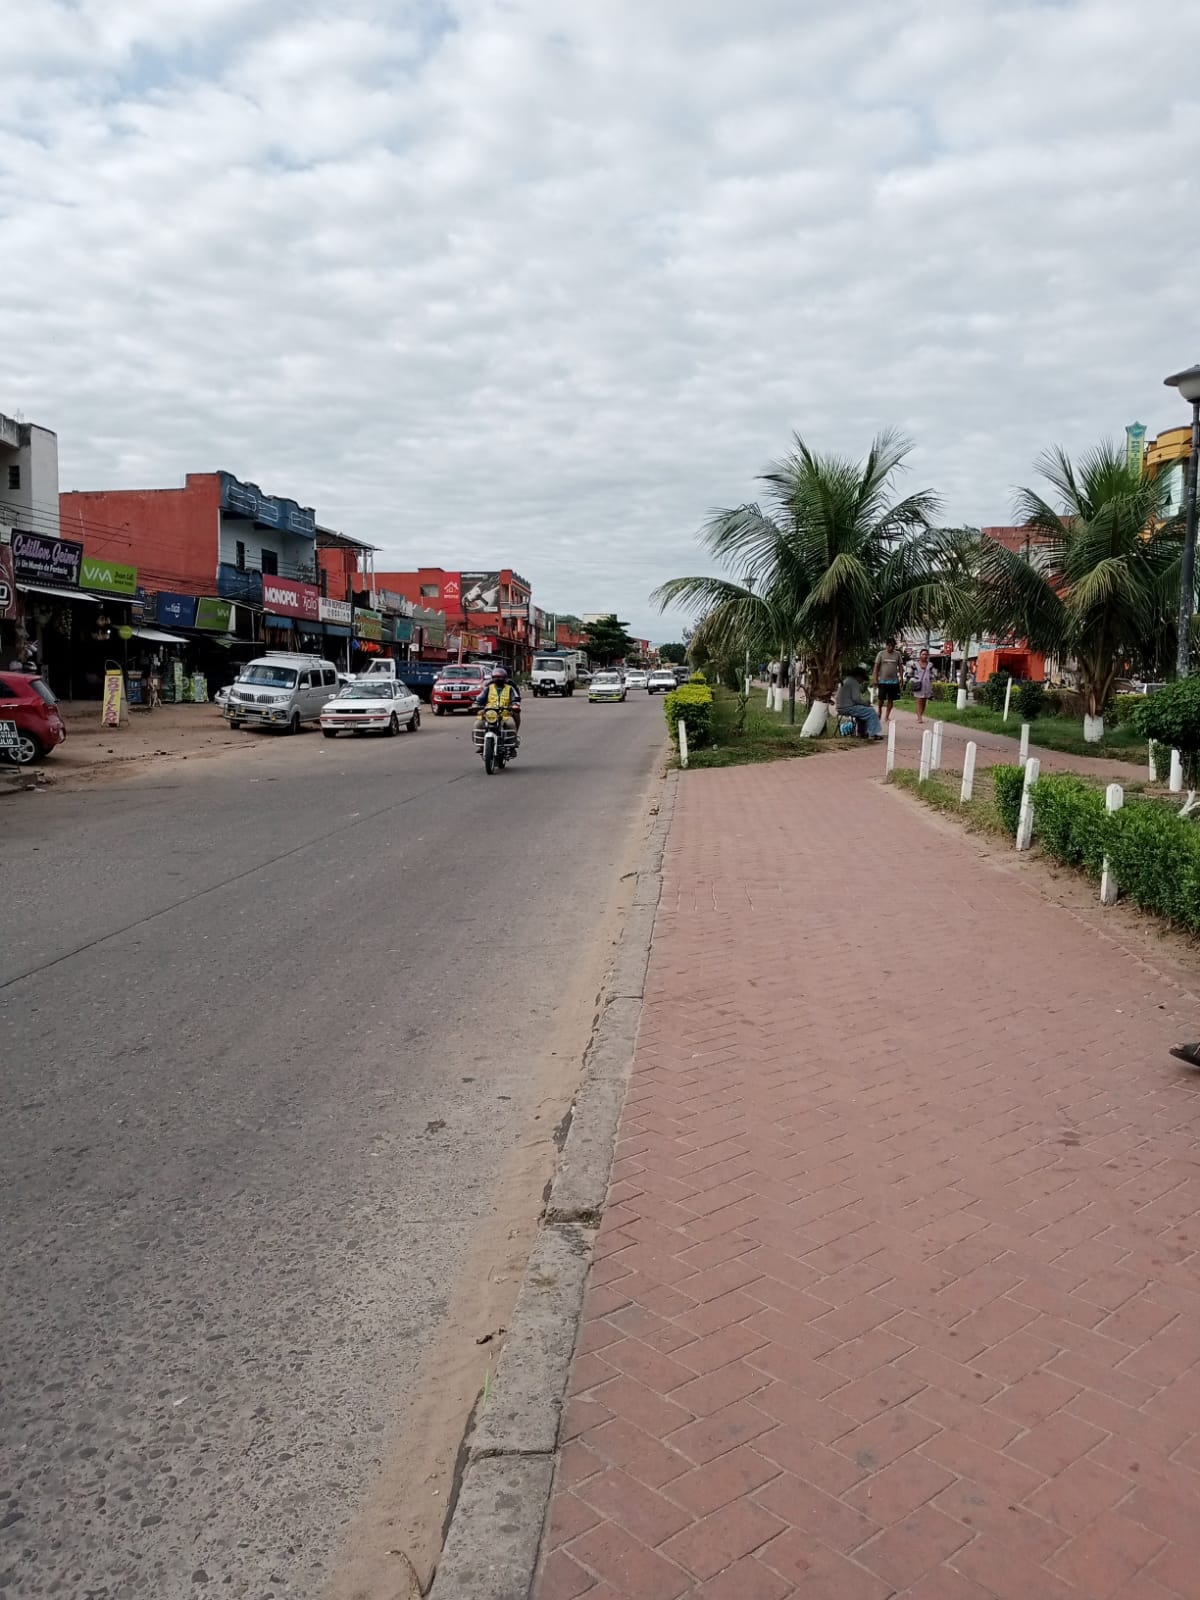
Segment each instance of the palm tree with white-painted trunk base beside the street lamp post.
[[1098,445],[1078,464],[1054,448],[1037,466],[1059,506],[1018,491],[1018,520],[1042,534],[1034,558],[989,541],[981,578],[1014,632],[1074,658],[1083,738],[1098,744],[1122,667],[1162,656],[1173,637],[1182,533],[1165,517],[1166,478],[1130,467],[1123,448]]

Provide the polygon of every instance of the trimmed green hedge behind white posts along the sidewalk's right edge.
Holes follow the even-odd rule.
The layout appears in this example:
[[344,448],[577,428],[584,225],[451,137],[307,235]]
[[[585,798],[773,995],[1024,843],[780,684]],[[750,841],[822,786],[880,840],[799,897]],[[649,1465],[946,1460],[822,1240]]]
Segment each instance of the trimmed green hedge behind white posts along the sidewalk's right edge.
[[[1006,768],[1018,773],[1019,768]],[[995,776],[995,773],[994,773]],[[1019,787],[1016,790],[1019,805]],[[1000,790],[997,787],[997,803]],[[1200,827],[1157,800],[1109,814],[1104,790],[1072,773],[1034,786],[1037,840],[1051,856],[1099,877],[1104,856],[1120,890],[1142,910],[1200,933]]]

